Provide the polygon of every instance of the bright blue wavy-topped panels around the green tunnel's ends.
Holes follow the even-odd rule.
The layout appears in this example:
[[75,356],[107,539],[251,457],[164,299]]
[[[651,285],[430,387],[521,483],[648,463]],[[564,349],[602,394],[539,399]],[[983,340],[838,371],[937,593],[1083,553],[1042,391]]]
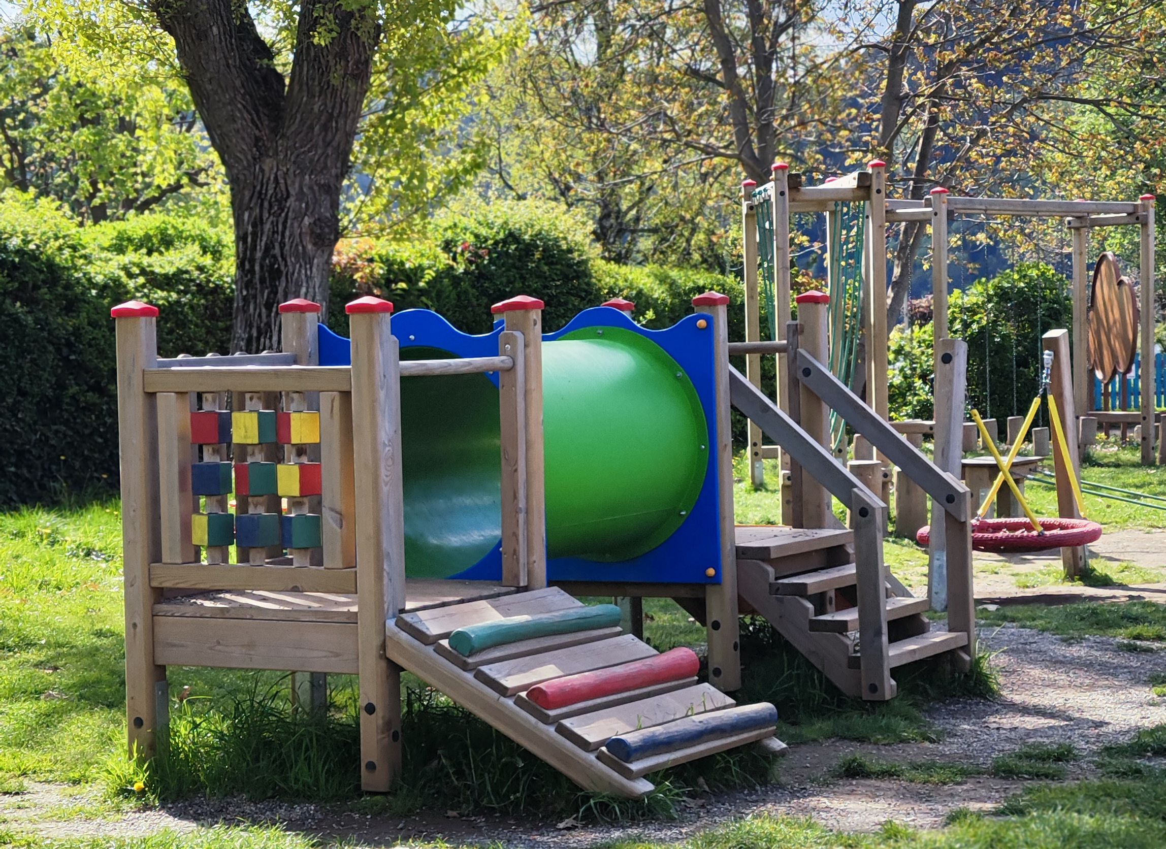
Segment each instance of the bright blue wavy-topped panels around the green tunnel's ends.
[[[575,316],[567,327],[542,338],[553,343],[586,328],[623,328],[654,342],[676,360],[696,390],[708,427],[708,445],[717,444],[716,358],[711,328],[697,327],[702,316],[690,315],[666,330],[649,330],[637,324],[623,310],[592,307]],[[707,316],[705,316],[707,318]],[[444,317],[427,309],[409,309],[393,316],[393,335],[401,349],[436,348],[455,357],[493,357],[503,322],[489,334],[464,334]],[[350,365],[349,339],[319,325],[319,364]],[[491,376],[494,385],[497,374]],[[613,583],[721,583],[721,517],[717,452],[708,451],[704,483],[684,522],[672,536],[631,560],[599,563],[582,557],[553,557],[547,561],[549,581],[603,581]],[[711,576],[705,574],[712,569]],[[408,564],[406,564],[408,570]],[[498,581],[501,577],[501,541],[482,560],[452,577],[470,581]]]

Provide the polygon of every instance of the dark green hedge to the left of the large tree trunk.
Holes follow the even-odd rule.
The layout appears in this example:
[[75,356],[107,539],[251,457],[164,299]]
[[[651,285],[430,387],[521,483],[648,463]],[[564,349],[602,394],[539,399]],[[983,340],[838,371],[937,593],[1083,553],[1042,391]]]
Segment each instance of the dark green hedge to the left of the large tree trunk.
[[159,306],[163,355],[225,351],[229,243],[210,229],[143,216],[82,230],[54,203],[0,195],[0,504],[107,487],[118,477],[110,307]]

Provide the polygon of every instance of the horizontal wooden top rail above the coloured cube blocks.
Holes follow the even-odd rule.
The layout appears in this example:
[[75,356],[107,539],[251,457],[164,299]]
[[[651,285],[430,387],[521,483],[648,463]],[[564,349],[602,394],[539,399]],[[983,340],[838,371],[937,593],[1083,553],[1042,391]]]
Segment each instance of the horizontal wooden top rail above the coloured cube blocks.
[[146,392],[349,392],[349,366],[146,369]]

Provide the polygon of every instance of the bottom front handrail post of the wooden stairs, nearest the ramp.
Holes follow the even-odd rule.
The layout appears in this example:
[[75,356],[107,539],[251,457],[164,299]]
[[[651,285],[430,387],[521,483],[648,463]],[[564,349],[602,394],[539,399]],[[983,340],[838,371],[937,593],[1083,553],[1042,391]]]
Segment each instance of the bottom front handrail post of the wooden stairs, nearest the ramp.
[[[873,462],[873,461],[865,461]],[[858,650],[863,699],[895,694],[886,633],[886,564],[883,562],[883,511],[862,490],[850,496],[855,529],[855,577],[858,601]]]

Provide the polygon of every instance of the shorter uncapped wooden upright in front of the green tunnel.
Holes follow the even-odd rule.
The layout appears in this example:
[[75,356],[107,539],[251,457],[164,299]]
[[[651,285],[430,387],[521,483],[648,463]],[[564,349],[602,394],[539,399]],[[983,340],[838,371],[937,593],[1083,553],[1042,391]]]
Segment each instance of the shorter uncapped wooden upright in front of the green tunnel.
[[498,336],[498,350],[514,356],[514,367],[498,376],[499,434],[501,441],[501,556],[503,583],[526,587],[526,369],[519,356],[525,342],[521,334],[505,330]]

